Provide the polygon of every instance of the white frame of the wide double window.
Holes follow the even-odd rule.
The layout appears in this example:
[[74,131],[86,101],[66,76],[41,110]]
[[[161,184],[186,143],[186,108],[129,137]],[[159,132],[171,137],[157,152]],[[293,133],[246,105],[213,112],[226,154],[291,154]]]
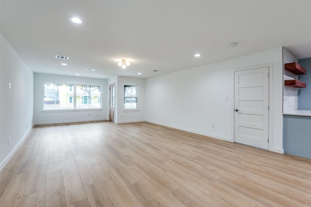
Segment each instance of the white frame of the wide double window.
[[[44,105],[45,105],[45,101],[44,101],[44,98],[45,98],[45,85],[46,84],[51,84],[51,85],[62,85],[62,86],[71,86],[72,90],[69,89],[69,92],[72,92],[72,95],[69,95],[72,96],[72,104],[73,105],[73,108],[56,108],[56,109],[46,109],[44,108]],[[59,83],[59,82],[44,82],[43,83],[43,103],[42,103],[42,111],[43,112],[55,112],[55,111],[97,111],[97,110],[103,110],[103,104],[102,102],[101,103],[98,103],[100,104],[100,106],[98,108],[78,108],[77,107],[77,104],[76,104],[76,101],[77,101],[77,86],[95,86],[95,85],[88,85],[88,84],[68,84],[68,83]],[[102,97],[103,95],[103,86],[102,85],[97,85],[96,87],[100,87],[100,91],[99,91],[99,97]],[[99,89],[98,89],[99,90]],[[68,97],[68,102],[69,102],[69,97]],[[91,98],[92,99],[92,98]]]

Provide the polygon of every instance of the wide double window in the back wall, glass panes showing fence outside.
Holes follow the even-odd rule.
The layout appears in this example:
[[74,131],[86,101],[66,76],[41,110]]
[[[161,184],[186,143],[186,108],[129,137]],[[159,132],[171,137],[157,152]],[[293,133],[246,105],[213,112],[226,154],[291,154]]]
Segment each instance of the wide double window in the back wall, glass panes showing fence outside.
[[44,110],[101,108],[101,86],[44,84]]

